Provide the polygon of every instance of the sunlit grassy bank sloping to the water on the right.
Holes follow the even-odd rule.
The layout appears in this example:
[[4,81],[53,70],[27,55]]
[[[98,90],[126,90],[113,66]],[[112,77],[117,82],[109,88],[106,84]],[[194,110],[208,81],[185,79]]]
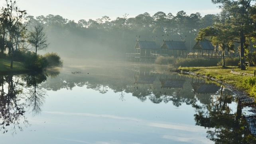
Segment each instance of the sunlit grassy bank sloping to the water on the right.
[[[205,79],[211,79],[221,84],[228,84],[236,90],[244,91],[248,96],[256,100],[256,77],[248,75],[236,75],[230,73],[231,70],[237,72],[244,72],[254,74],[256,67],[246,67],[246,70],[241,70],[237,66],[229,67],[179,67],[177,69],[170,69],[170,71],[176,71],[178,73],[194,75]],[[255,102],[255,101],[254,101]]]

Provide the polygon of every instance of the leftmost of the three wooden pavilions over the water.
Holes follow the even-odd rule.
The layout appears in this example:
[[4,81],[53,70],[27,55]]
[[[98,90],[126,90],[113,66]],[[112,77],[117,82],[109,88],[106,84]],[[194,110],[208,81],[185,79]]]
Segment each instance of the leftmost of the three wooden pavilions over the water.
[[156,51],[158,50],[158,46],[156,46],[156,42],[154,41],[136,40],[134,49],[135,49],[135,53],[140,54],[140,57],[158,57],[159,56],[159,54],[156,54]]

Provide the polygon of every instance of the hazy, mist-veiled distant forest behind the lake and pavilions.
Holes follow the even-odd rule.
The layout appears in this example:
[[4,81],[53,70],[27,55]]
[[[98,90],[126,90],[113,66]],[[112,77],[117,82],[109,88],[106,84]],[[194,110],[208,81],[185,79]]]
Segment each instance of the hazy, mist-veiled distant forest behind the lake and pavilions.
[[134,52],[136,40],[155,41],[160,48],[164,38],[181,41],[186,36],[185,44],[190,52],[195,44],[195,34],[200,28],[212,25],[213,16],[187,15],[184,11],[175,17],[163,12],[151,16],[145,12],[132,18],[117,17],[112,21],[103,16],[78,22],[60,15],[30,17],[31,25],[35,21],[43,23],[50,43],[49,48],[39,54],[57,52],[63,58],[124,60],[125,53]]

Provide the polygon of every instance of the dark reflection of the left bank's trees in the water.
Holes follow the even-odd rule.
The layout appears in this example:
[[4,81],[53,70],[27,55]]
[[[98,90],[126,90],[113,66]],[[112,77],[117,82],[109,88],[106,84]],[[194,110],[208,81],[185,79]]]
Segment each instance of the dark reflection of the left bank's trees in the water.
[[[58,74],[51,73],[51,77]],[[46,92],[39,85],[45,82],[47,77],[47,72],[0,76],[0,131],[6,133],[12,130],[12,134],[16,134],[17,129],[22,131],[23,127],[28,127],[25,113],[30,111],[30,108],[33,115],[41,112]],[[11,129],[8,129],[8,126]]]

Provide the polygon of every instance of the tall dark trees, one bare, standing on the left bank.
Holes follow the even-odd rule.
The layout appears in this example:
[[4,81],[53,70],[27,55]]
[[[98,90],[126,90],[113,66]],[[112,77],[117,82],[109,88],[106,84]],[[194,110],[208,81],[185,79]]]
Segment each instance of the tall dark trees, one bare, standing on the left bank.
[[[25,63],[27,68],[41,69],[47,63],[47,58],[37,56],[38,50],[49,45],[44,27],[41,23],[32,25],[27,15],[26,10],[18,8],[16,1],[12,0],[5,0],[5,5],[0,9],[0,58],[9,58],[11,69],[13,61],[21,59],[18,57],[21,57],[22,52],[25,61],[28,61]],[[28,50],[35,50],[35,54]]]

